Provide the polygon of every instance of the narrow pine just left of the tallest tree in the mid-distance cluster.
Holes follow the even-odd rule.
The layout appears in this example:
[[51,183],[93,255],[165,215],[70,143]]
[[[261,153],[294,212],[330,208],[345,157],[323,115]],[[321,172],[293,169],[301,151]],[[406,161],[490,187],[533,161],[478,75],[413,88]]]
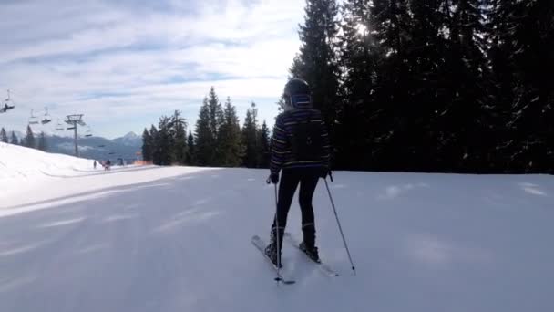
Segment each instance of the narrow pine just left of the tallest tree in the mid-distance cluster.
[[215,138],[210,128],[210,107],[208,98],[200,108],[199,118],[196,120],[195,130],[195,159],[200,166],[210,166],[215,159]]

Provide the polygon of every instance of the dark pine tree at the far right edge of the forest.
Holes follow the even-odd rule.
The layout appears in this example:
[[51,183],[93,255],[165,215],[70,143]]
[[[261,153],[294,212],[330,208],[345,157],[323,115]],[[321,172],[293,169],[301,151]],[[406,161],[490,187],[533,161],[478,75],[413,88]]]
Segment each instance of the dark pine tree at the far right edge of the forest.
[[516,172],[553,172],[554,3],[493,1],[491,67],[506,129],[498,144]]

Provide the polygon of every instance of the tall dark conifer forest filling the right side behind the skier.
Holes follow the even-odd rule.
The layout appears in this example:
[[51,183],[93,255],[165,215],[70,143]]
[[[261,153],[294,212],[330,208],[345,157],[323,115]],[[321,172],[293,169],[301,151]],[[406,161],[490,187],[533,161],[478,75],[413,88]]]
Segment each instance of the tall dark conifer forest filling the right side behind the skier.
[[554,172],[553,16],[552,0],[307,0],[291,76],[335,169]]

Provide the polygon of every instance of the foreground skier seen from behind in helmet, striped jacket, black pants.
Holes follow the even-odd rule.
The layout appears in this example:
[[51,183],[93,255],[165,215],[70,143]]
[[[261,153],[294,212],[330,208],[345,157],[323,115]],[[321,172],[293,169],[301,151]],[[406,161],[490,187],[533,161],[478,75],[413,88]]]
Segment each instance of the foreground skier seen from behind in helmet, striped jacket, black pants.
[[289,80],[283,93],[284,111],[277,117],[273,128],[271,174],[267,182],[277,184],[279,172],[282,174],[271,243],[265,248],[265,254],[274,265],[281,264],[281,250],[277,250],[277,246],[282,247],[287,215],[298,184],[303,231],[303,242],[299,247],[313,261],[320,262],[315,246],[312,198],[319,178],[325,179],[331,173],[330,143],[322,113],[313,109],[310,93],[304,80]]

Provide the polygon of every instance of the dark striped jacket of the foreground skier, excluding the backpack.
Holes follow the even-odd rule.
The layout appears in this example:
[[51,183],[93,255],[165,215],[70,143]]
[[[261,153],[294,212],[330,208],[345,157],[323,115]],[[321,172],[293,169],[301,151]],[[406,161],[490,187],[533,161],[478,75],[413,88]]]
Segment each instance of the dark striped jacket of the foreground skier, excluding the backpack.
[[[292,154],[292,133],[299,122],[308,119],[311,122],[322,124],[322,157],[320,159],[299,161]],[[311,106],[303,105],[298,109],[286,110],[277,116],[272,135],[272,161],[270,165],[272,173],[279,173],[285,168],[329,167],[329,158],[329,134],[325,128],[321,111],[312,109]]]

